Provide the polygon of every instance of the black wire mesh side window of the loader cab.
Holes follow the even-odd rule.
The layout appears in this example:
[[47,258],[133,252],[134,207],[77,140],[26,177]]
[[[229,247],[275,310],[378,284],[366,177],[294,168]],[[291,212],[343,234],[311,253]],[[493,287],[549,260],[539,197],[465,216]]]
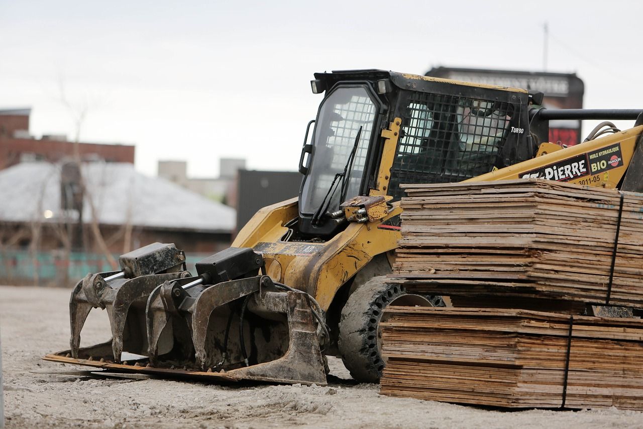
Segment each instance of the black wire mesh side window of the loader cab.
[[410,93],[389,195],[404,196],[401,184],[460,182],[491,171],[512,114],[506,102]]

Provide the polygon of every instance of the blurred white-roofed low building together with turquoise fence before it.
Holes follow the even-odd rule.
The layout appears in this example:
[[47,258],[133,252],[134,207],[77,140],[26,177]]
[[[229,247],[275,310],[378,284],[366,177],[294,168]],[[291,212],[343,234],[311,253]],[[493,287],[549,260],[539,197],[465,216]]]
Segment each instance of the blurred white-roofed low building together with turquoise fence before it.
[[188,262],[225,249],[235,210],[133,164],[23,162],[0,171],[0,283],[70,285],[118,255],[175,243]]

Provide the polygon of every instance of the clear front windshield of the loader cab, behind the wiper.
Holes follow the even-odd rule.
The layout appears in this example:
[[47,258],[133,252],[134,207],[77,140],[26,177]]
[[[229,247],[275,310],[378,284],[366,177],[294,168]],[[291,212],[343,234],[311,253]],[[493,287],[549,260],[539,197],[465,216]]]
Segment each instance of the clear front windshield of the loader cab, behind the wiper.
[[[302,213],[314,213],[329,192],[327,212],[338,210],[341,180],[346,180],[345,199],[359,195],[376,115],[377,106],[363,86],[341,86],[322,102],[302,187]],[[354,158],[349,162],[353,150]],[[347,175],[336,178],[347,165]]]

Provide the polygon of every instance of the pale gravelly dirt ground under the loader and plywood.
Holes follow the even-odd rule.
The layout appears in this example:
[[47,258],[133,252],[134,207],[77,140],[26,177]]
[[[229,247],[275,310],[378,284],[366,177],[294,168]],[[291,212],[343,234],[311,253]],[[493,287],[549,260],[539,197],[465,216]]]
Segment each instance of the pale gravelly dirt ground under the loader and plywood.
[[[147,379],[122,381],[33,374],[87,369],[41,361],[69,347],[68,289],[0,287],[7,428],[640,428],[627,410],[502,412],[381,396],[352,383],[339,359],[329,386],[219,386]],[[109,338],[107,317],[93,310],[83,345]]]

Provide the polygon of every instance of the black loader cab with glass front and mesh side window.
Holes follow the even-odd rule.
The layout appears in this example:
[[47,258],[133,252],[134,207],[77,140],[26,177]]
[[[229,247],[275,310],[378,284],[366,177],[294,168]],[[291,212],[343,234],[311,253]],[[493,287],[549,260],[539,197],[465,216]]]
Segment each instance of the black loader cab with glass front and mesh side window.
[[[316,73],[311,85],[324,98],[300,161],[302,240],[345,229],[340,204],[354,196],[395,201],[402,184],[460,182],[536,151],[525,90],[383,70]],[[399,133],[386,137],[396,119]]]

